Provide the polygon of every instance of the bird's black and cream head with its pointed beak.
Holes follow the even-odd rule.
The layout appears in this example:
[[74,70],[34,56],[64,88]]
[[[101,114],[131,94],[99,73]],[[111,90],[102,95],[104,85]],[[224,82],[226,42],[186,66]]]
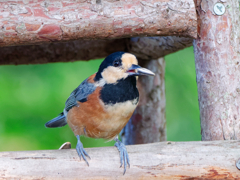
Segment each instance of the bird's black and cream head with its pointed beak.
[[138,65],[136,56],[126,52],[115,52],[107,56],[100,65],[95,80],[104,79],[107,84],[116,83],[120,79],[129,76],[141,76],[155,74]]

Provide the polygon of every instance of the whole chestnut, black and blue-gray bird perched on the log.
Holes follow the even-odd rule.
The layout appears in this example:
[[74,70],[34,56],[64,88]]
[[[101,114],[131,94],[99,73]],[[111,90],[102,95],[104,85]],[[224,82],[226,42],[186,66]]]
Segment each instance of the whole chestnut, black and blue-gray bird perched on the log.
[[48,128],[68,124],[77,138],[78,156],[89,166],[90,156],[80,141],[80,136],[115,140],[114,146],[120,153],[123,174],[130,160],[126,146],[118,134],[131,118],[139,102],[138,76],[155,74],[138,65],[135,55],[115,52],[108,55],[98,71],[85,79],[69,96],[63,112],[48,121]]

